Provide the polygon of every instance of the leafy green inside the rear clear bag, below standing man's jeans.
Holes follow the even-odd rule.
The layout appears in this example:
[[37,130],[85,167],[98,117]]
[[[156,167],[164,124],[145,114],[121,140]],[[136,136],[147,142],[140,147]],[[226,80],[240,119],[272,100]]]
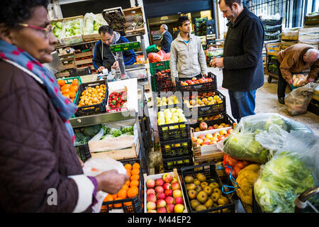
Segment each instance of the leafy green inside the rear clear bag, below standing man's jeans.
[[250,131],[234,132],[224,140],[223,150],[237,159],[264,164],[270,158],[269,150],[263,148],[254,135]]

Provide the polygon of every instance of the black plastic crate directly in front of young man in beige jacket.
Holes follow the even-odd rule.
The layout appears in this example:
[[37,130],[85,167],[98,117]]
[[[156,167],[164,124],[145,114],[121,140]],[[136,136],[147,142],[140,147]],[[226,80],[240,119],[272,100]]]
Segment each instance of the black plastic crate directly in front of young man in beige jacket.
[[217,90],[217,80],[216,75],[208,72],[208,78],[211,78],[211,82],[206,82],[202,84],[190,84],[190,85],[181,85],[181,82],[185,82],[187,79],[179,80],[176,78],[176,87],[177,91],[180,92],[203,92],[203,91],[216,91]]

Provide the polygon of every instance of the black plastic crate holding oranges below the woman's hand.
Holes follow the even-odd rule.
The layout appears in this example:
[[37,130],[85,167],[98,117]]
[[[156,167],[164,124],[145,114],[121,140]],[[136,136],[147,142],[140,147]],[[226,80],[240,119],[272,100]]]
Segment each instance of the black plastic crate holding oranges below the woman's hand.
[[[140,164],[139,159],[128,159],[128,160],[120,160],[123,165],[130,163],[138,162]],[[123,209],[124,213],[142,213],[142,202],[143,202],[143,186],[144,186],[144,178],[142,176],[142,167],[140,167],[140,184],[138,185],[138,195],[133,198],[126,199],[118,199],[115,201],[103,201],[101,206],[100,213],[109,213],[115,209]],[[114,204],[121,207],[114,207]]]

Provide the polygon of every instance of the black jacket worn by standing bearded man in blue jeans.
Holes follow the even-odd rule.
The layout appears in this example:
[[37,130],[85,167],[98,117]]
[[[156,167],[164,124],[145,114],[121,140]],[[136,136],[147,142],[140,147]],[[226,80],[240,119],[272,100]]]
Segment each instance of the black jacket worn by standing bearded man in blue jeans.
[[264,84],[262,45],[264,26],[245,7],[235,23],[227,24],[224,47],[223,87],[247,92]]

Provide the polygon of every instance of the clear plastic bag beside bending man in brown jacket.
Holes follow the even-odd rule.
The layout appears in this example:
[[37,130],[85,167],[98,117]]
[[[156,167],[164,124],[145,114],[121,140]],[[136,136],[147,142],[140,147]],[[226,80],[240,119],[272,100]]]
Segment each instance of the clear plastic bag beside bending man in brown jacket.
[[285,98],[285,105],[291,116],[306,114],[308,105],[313,96],[313,89],[318,86],[316,83],[309,83],[303,87],[293,89]]

